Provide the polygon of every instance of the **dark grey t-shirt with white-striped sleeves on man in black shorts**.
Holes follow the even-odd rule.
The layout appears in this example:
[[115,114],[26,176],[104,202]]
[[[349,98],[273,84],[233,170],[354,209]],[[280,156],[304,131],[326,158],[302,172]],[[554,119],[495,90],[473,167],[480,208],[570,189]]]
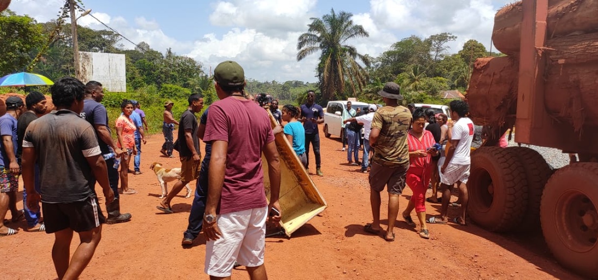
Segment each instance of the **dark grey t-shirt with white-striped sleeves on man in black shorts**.
[[23,148],[35,148],[39,161],[41,199],[47,203],[77,202],[96,196],[86,157],[99,155],[96,133],[73,111],[52,111],[29,124]]

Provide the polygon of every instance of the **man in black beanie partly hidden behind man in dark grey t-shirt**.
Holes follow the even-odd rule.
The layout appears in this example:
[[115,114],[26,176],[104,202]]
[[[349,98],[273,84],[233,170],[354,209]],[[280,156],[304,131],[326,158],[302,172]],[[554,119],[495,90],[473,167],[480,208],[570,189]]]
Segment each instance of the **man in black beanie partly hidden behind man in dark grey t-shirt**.
[[[19,165],[21,164],[21,156],[23,156],[23,136],[25,136],[25,130],[29,124],[36,120],[41,115],[45,114],[48,106],[45,96],[40,92],[31,92],[25,97],[25,105],[27,111],[24,112],[17,121],[17,136],[19,138],[19,148],[17,148],[17,160]],[[39,190],[39,165],[35,163],[35,179],[33,180],[33,187],[38,193]],[[39,205],[38,205],[39,208]],[[25,209],[25,220],[27,220],[27,226],[29,232],[44,232],[45,226],[39,223],[41,218],[41,212],[39,209],[33,211],[27,206],[27,192],[23,191],[23,209]]]

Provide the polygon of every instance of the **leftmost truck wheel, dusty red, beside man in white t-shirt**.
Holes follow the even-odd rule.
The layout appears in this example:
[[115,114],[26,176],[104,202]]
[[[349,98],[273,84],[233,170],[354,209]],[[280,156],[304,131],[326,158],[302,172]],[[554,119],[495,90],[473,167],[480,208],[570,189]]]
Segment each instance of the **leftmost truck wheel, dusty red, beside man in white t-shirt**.
[[527,179],[517,155],[482,147],[471,155],[468,180],[471,220],[492,232],[517,227],[527,210]]

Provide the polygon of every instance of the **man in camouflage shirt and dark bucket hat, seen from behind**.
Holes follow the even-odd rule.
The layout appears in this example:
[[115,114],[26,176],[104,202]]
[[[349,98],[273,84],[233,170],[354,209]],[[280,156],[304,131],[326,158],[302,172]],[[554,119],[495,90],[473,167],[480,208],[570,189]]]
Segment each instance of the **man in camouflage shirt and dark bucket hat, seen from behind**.
[[370,171],[370,203],[374,221],[366,224],[364,230],[380,233],[380,192],[388,190],[388,228],[384,239],[394,241],[396,215],[399,212],[399,196],[405,187],[405,175],[409,168],[407,130],[411,124],[411,112],[398,105],[403,99],[398,84],[388,82],[378,92],[386,106],[374,113],[370,132],[370,146],[374,148]]

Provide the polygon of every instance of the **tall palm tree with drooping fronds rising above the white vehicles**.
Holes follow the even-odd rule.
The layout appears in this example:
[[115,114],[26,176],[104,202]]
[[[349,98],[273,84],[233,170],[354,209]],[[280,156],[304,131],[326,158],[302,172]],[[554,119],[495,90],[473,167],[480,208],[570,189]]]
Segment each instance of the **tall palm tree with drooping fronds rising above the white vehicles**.
[[307,25],[309,29],[297,41],[297,61],[322,52],[317,69],[322,98],[326,100],[343,93],[346,86],[351,87],[355,94],[367,83],[367,72],[356,59],[365,66],[370,66],[370,59],[359,54],[352,45],[346,45],[346,42],[351,38],[370,35],[363,26],[354,25],[351,17],[352,13],[341,11],[337,14],[334,9],[322,19],[312,17],[312,23]]

